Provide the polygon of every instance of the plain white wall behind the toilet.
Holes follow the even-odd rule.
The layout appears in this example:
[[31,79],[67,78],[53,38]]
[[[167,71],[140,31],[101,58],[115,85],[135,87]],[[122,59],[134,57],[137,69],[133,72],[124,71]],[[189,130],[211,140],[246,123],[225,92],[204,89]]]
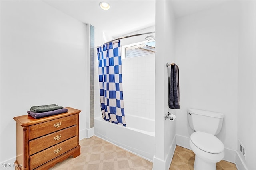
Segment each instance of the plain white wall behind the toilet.
[[192,129],[187,109],[224,113],[217,137],[236,150],[239,4],[226,2],[176,19],[176,63],[180,66],[180,110],[176,134]]

